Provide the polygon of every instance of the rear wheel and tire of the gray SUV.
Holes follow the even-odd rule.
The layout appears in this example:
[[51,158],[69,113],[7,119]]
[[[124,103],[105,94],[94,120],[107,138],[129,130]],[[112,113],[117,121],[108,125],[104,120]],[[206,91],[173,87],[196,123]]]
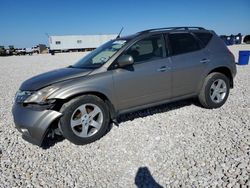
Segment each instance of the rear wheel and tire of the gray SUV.
[[222,73],[209,74],[198,95],[201,105],[205,108],[219,108],[227,100],[229,95],[229,78]]

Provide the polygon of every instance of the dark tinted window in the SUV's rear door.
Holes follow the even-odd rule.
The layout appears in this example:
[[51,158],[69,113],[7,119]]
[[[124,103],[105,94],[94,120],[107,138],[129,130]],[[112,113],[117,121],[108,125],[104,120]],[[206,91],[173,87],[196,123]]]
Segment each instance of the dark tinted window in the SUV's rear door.
[[172,55],[193,52],[200,49],[198,41],[190,33],[169,34]]

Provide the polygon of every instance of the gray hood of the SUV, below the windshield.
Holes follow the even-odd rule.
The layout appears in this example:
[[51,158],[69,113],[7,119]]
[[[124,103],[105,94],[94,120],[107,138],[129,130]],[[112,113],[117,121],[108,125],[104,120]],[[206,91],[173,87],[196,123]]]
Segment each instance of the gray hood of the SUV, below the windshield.
[[53,83],[88,75],[93,69],[62,68],[34,76],[20,87],[22,91],[36,91]]

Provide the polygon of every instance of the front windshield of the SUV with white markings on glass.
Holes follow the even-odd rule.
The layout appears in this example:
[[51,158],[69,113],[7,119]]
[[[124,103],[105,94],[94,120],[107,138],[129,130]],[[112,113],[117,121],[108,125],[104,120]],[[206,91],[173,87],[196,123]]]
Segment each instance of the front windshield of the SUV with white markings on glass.
[[73,68],[99,68],[105,64],[125,44],[126,40],[111,40],[84,56]]

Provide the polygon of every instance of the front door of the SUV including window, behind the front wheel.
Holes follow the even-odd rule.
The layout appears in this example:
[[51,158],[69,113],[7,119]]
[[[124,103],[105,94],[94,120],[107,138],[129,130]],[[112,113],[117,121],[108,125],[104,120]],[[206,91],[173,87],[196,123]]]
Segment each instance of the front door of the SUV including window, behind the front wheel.
[[131,55],[134,64],[113,70],[119,110],[158,102],[171,96],[170,61],[166,57],[162,34],[137,41],[123,54]]

